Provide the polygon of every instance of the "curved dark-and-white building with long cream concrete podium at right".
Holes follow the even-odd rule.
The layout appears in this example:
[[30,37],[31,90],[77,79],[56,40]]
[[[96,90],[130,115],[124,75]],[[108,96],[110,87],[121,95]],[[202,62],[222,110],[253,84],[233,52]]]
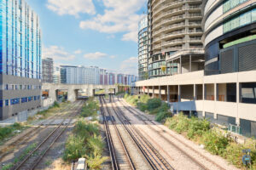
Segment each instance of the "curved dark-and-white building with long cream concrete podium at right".
[[204,71],[136,82],[133,93],[256,137],[256,2],[204,0],[201,8]]

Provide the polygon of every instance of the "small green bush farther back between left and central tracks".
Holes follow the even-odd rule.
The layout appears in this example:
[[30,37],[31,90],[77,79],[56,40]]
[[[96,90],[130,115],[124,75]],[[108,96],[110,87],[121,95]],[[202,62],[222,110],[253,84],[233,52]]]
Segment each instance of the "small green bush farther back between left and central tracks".
[[97,111],[99,111],[99,109],[100,109],[99,103],[96,102],[94,98],[90,98],[84,104],[80,116],[82,117],[93,116],[94,118],[96,118],[96,116],[98,116]]

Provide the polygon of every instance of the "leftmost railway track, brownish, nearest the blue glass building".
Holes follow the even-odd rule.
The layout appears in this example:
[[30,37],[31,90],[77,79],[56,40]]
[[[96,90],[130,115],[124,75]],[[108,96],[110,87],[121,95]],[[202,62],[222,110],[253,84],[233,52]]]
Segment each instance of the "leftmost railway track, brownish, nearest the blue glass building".
[[[70,105],[66,105],[63,109],[61,109],[61,111],[59,112],[59,114],[54,115],[54,116],[50,116],[48,119],[46,119],[44,122],[41,122],[37,127],[32,127],[31,130],[29,130],[27,133],[25,133],[22,136],[22,139],[16,139],[14,142],[6,145],[3,150],[0,150],[0,161],[3,161],[3,158],[5,158],[6,156],[8,156],[10,153],[12,153],[12,151],[9,150],[14,150],[15,148],[18,148],[20,145],[23,145],[26,143],[27,140],[31,139],[35,134],[42,132],[44,129],[46,129],[47,127],[49,127],[49,125],[54,122],[55,118],[60,116],[62,114],[62,112],[68,111]],[[50,122],[48,122],[47,125],[44,125],[45,122],[49,121],[49,119],[53,119]],[[43,127],[44,126],[44,127]]]

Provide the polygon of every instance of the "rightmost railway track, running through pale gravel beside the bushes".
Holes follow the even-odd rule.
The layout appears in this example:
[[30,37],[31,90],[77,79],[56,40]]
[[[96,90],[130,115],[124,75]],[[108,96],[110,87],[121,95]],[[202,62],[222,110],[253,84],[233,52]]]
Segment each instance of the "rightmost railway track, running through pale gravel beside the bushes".
[[[131,106],[126,106],[124,103],[124,101],[119,100],[119,103],[127,110],[129,111],[133,116],[136,116],[140,121],[144,122],[146,125],[157,125],[154,121],[150,120],[147,116],[144,116],[142,113],[140,113],[139,111],[137,111],[136,109],[134,109]],[[149,123],[148,123],[149,122]],[[188,148],[189,150],[192,150],[193,152],[195,152],[196,155],[201,156],[203,159],[205,159],[206,161],[210,162],[212,165],[214,165],[215,167],[218,167],[218,169],[220,170],[225,170],[224,167],[221,167],[220,165],[218,165],[215,161],[212,161],[211,159],[209,159],[206,156],[203,156],[199,151],[195,150],[194,148],[190,147],[188,144],[185,144],[182,140],[177,139],[174,135],[172,135],[171,133],[166,133],[166,130],[160,126],[154,126],[156,128],[158,128],[159,130],[156,130],[154,127],[152,126],[148,126],[151,130],[153,130],[155,133],[165,133],[168,136],[172,137],[173,139],[176,139],[180,144],[183,144],[186,148]],[[180,150],[185,156],[189,157],[189,159],[191,161],[194,161],[196,164],[198,164],[199,167],[202,167],[203,169],[206,170],[210,170],[210,168],[206,167],[203,163],[201,163],[201,161],[199,161],[198,159],[195,159],[195,156],[190,156],[185,150],[183,150],[182,148],[180,148],[177,144],[173,143],[170,139],[166,139],[166,137],[162,136],[163,139],[165,139],[168,143],[172,144],[175,148],[177,148],[177,150]]]

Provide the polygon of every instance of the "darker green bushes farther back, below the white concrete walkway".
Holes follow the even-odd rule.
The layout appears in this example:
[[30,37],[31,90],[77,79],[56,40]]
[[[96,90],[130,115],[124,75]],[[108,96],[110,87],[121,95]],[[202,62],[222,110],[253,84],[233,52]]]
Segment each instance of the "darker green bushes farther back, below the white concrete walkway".
[[160,99],[150,99],[148,95],[129,95],[125,94],[125,100],[130,105],[136,105],[140,111],[148,112],[155,116],[155,121],[165,122],[167,117],[171,117],[172,113],[169,111],[169,107],[166,103]]

